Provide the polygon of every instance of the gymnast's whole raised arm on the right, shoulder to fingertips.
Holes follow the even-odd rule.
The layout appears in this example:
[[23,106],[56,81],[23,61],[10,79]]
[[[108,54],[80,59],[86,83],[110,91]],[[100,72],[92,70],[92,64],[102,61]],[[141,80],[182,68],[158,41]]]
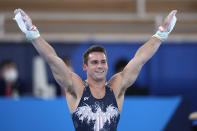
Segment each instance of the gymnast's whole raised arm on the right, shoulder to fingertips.
[[169,13],[157,33],[137,50],[134,58],[129,61],[123,71],[109,81],[112,85],[119,85],[115,89],[117,96],[123,95],[124,91],[135,82],[142,66],[156,53],[161,42],[167,39],[176,23],[176,12],[173,10]]

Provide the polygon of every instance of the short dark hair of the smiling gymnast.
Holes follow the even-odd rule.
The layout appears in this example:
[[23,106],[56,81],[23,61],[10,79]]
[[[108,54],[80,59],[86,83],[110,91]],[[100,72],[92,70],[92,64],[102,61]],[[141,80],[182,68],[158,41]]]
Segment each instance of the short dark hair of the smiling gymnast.
[[88,48],[85,53],[83,54],[83,64],[88,65],[88,56],[90,53],[92,52],[102,52],[105,54],[105,56],[107,57],[107,53],[104,47],[100,46],[100,45],[93,45],[90,48]]

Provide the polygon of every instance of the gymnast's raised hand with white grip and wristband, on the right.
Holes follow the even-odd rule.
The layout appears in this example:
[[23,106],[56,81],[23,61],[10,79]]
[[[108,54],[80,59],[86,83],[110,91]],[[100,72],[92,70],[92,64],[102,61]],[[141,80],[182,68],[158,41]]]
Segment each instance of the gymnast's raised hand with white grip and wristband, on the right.
[[176,13],[177,13],[177,10],[171,11],[168,14],[168,16],[166,16],[166,18],[164,19],[162,26],[159,27],[158,31],[153,36],[157,37],[158,39],[160,39],[162,41],[167,40],[168,35],[173,30],[173,28],[176,24],[176,20],[177,20],[177,18],[175,16]]

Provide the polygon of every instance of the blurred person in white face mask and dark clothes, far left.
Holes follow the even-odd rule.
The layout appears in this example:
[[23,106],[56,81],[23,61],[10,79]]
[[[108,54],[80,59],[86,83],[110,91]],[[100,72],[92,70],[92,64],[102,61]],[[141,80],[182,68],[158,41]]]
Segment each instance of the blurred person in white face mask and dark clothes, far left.
[[0,72],[0,96],[18,97],[24,94],[25,88],[18,78],[18,70],[14,61],[2,61]]

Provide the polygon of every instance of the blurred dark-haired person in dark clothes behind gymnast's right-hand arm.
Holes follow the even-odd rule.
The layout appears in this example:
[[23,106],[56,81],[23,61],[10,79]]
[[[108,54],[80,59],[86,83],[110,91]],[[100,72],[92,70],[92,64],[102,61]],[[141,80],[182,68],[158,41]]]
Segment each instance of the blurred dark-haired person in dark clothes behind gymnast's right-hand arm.
[[[128,62],[129,61],[126,58],[117,60],[115,64],[115,73],[121,72],[128,64]],[[131,87],[127,89],[125,95],[148,95],[148,89],[139,87],[139,85],[137,85],[137,83],[135,82]]]

